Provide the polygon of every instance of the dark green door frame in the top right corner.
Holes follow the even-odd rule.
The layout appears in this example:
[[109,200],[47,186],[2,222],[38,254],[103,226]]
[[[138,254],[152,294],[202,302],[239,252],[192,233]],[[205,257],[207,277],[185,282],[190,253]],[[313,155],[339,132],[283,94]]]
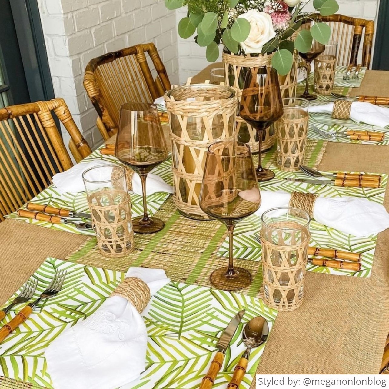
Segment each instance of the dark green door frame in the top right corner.
[[389,2],[381,0],[375,34],[373,69],[389,70]]

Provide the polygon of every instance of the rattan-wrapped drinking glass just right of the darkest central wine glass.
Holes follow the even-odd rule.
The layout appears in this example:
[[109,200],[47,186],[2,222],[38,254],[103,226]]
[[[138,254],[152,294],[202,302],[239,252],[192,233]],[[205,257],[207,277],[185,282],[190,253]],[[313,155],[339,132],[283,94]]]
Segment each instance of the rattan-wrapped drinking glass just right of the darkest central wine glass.
[[282,103],[284,114],[274,124],[277,137],[277,166],[286,172],[294,172],[304,164],[309,101],[303,98],[286,98]]

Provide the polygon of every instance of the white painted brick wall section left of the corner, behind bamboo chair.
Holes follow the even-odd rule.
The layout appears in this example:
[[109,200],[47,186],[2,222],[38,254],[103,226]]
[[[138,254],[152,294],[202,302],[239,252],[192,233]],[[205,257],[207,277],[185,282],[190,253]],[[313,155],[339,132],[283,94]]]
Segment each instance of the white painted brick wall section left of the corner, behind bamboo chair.
[[[38,0],[56,97],[67,102],[89,145],[101,144],[97,114],[82,81],[86,64],[103,53],[154,42],[169,78],[177,83],[175,13],[164,0]],[[65,143],[68,135],[63,128]]]

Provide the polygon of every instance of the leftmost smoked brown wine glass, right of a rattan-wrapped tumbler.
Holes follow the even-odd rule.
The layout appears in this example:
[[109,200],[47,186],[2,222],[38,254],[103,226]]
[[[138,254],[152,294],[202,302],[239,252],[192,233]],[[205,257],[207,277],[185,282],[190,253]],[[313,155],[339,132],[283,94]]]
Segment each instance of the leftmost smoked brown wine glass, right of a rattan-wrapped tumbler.
[[168,156],[158,110],[150,103],[128,103],[120,109],[115,156],[138,173],[142,182],[143,217],[133,219],[134,232],[151,234],[162,230],[165,223],[149,217],[146,200],[147,174]]

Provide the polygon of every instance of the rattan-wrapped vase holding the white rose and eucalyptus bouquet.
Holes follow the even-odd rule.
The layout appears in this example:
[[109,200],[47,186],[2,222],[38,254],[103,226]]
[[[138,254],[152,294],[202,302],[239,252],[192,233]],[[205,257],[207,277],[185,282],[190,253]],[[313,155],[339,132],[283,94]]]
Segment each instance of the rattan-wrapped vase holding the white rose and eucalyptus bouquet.
[[[226,85],[233,86],[238,90],[238,98],[242,95],[244,79],[247,68],[272,66],[273,54],[261,54],[259,56],[235,55],[223,53],[225,67]],[[297,62],[293,61],[291,71],[284,76],[279,75],[282,98],[296,96],[297,87]],[[237,116],[238,140],[247,143],[252,152],[258,152],[257,131],[247,124],[241,117]],[[273,126],[270,126],[263,133],[262,150],[268,150],[275,143],[275,133]]]

